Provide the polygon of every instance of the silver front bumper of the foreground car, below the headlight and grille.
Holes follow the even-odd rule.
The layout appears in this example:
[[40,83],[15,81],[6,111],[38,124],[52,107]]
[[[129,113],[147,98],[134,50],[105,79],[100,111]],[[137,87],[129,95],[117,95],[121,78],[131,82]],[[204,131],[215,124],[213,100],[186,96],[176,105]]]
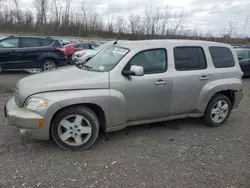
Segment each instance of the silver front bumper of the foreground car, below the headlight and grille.
[[34,139],[49,139],[49,132],[40,127],[40,120],[44,120],[44,118],[35,112],[17,106],[13,97],[7,102],[4,111],[8,124],[16,126],[21,133]]

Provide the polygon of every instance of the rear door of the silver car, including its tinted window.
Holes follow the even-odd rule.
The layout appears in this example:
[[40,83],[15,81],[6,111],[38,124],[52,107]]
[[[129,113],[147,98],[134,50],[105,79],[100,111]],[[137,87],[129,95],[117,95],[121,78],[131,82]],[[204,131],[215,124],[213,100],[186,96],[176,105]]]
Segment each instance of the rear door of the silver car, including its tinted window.
[[204,49],[175,47],[171,115],[194,112],[200,92],[210,79]]

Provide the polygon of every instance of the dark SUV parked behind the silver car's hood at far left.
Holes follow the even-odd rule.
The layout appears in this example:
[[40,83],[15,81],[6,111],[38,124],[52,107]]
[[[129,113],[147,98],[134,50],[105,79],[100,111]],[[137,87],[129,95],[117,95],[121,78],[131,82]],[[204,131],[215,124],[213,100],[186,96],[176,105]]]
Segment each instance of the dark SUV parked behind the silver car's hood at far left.
[[46,71],[66,63],[65,48],[54,38],[9,36],[0,39],[0,72],[29,69]]

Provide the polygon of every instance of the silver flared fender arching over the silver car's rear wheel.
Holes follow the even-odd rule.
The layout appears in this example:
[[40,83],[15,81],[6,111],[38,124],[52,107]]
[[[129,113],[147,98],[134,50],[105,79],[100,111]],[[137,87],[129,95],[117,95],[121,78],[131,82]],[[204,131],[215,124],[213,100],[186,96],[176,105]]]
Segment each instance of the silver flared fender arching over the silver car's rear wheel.
[[199,111],[204,113],[210,99],[214,96],[214,94],[220,91],[241,91],[242,89],[242,81],[238,78],[227,78],[209,82],[203,87],[196,107]]

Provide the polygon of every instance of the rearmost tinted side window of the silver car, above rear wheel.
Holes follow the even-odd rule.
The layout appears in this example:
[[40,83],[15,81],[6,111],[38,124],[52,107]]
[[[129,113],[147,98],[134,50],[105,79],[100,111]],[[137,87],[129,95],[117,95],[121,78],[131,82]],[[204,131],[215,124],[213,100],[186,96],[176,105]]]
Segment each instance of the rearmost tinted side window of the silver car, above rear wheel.
[[234,57],[229,48],[226,47],[209,47],[215,68],[234,67]]

